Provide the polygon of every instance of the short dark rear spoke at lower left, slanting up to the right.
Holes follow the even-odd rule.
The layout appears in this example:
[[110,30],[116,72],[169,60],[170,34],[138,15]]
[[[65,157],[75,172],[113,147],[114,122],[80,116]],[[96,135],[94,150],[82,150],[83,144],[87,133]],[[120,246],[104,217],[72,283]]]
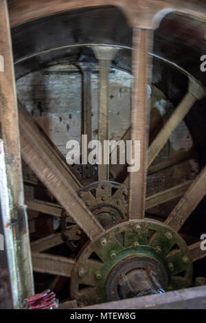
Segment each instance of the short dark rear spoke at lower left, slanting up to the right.
[[56,245],[60,245],[64,243],[61,238],[61,234],[51,234],[50,236],[46,236],[45,238],[38,239],[31,243],[32,252],[44,252],[52,247],[56,247]]

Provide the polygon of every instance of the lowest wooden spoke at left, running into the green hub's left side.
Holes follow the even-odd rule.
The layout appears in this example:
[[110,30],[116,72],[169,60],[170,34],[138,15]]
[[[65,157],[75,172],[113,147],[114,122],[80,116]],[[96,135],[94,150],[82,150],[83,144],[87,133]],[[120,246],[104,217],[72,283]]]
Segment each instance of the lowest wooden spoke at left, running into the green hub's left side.
[[32,252],[32,264],[34,271],[58,276],[71,277],[76,260],[52,254],[38,254]]

